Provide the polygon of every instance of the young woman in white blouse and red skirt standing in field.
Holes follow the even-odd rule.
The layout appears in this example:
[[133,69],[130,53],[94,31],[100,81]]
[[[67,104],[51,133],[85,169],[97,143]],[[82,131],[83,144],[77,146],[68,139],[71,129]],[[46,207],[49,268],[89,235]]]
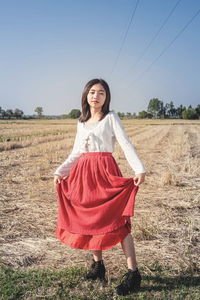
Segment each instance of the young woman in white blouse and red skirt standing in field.
[[[59,204],[56,237],[73,248],[92,250],[93,263],[86,279],[105,279],[102,250],[121,242],[128,272],[116,291],[126,295],[141,282],[130,217],[146,169],[120,118],[110,111],[110,99],[103,79],[90,80],[83,90],[72,152],[54,173]],[[123,177],[112,156],[116,141],[135,172],[134,178]]]

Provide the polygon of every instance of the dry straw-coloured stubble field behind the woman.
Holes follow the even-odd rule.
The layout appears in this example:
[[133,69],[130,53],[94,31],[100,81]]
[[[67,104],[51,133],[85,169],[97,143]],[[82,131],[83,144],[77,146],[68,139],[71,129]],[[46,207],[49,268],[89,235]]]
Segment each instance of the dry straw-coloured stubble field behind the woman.
[[[124,120],[123,124],[148,169],[132,218],[139,266],[144,275],[152,274],[155,265],[179,275],[196,274],[200,270],[200,120]],[[72,249],[54,237],[53,172],[70,153],[75,129],[76,120],[0,121],[1,265],[89,267],[91,252]],[[133,177],[118,144],[113,156],[123,176]],[[103,255],[108,277],[126,270],[120,244]]]

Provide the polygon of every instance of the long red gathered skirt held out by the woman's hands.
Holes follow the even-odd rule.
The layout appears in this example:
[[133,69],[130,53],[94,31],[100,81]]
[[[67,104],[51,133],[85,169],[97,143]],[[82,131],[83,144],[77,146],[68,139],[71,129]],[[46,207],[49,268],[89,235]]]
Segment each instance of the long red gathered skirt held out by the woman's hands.
[[138,188],[122,176],[111,152],[81,154],[56,185],[56,237],[73,248],[112,248],[131,232]]

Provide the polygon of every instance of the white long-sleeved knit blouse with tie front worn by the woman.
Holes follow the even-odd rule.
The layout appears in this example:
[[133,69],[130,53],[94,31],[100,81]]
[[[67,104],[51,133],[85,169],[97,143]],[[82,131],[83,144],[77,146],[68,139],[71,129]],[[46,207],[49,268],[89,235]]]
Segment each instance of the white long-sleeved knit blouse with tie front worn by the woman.
[[[94,126],[95,125],[95,126]],[[65,177],[82,153],[114,152],[116,141],[135,174],[146,173],[136,149],[127,136],[117,113],[110,111],[102,120],[94,123],[77,122],[77,132],[72,152],[56,169],[54,175]]]

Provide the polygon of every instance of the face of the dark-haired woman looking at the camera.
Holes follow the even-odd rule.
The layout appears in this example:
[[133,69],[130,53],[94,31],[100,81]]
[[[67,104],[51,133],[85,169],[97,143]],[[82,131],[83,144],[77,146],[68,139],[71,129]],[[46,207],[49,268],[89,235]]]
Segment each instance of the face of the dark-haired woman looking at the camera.
[[100,84],[94,84],[88,92],[87,102],[90,107],[102,108],[106,100],[106,91]]

